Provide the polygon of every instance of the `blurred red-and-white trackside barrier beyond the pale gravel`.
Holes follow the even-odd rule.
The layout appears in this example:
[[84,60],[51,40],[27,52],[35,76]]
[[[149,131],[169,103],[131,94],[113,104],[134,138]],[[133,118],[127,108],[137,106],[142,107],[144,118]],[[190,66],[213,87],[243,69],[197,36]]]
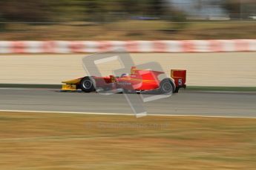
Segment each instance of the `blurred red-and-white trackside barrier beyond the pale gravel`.
[[0,41],[0,54],[127,52],[252,52],[256,39],[182,41]]

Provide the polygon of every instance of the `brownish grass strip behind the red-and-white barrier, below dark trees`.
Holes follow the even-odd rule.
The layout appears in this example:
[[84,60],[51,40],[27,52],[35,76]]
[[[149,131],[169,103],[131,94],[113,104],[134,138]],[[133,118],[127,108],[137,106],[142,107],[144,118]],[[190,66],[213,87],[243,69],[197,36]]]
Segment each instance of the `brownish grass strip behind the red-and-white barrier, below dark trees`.
[[6,24],[1,40],[186,40],[253,39],[256,22],[248,21],[116,21],[106,24]]

